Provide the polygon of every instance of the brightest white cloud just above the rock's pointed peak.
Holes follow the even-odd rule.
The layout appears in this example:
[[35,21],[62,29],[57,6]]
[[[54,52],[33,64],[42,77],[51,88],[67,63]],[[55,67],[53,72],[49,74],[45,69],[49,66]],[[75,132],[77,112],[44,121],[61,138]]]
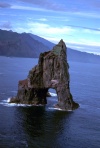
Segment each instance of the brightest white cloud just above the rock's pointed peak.
[[28,21],[26,22],[25,27],[22,26],[17,26],[14,31],[17,31],[19,33],[22,32],[27,32],[27,33],[33,33],[36,35],[39,35],[43,38],[50,39],[52,38],[52,41],[58,42],[61,38],[64,40],[66,37],[70,37],[72,33],[75,32],[74,29],[71,27],[66,27],[66,26],[53,26],[49,25],[46,22],[32,22]]

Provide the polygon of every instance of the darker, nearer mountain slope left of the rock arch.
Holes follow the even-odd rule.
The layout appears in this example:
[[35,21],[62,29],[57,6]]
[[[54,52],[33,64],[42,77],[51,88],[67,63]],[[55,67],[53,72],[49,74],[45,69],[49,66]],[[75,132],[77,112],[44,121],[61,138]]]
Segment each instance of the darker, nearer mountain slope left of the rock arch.
[[18,34],[0,30],[0,55],[10,57],[39,57],[39,54],[50,48],[35,40],[30,34]]

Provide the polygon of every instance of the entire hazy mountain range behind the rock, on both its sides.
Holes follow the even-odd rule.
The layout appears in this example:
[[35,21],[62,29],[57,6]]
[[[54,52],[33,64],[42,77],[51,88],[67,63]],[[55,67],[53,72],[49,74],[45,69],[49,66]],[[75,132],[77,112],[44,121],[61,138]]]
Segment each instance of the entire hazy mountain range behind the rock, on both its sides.
[[[0,30],[0,55],[9,57],[37,58],[55,44],[30,33]],[[100,63],[100,56],[67,48],[68,61]]]

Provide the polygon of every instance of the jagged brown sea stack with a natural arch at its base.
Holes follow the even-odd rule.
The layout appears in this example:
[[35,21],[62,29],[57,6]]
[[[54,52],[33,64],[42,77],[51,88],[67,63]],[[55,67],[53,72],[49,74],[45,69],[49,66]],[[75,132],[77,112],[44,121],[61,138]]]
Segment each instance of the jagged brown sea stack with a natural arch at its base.
[[70,93],[69,65],[66,59],[66,45],[61,40],[51,51],[40,54],[38,65],[29,71],[25,80],[19,81],[17,96],[10,103],[46,104],[49,88],[57,92],[55,107],[63,110],[78,108]]

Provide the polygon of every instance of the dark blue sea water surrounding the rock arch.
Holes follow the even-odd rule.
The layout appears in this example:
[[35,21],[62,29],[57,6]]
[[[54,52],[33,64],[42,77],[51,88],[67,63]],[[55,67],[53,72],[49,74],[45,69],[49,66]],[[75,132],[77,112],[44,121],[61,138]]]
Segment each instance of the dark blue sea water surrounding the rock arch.
[[77,110],[55,110],[55,91],[43,106],[9,104],[18,81],[38,59],[0,57],[0,148],[100,148],[100,65],[69,61]]

